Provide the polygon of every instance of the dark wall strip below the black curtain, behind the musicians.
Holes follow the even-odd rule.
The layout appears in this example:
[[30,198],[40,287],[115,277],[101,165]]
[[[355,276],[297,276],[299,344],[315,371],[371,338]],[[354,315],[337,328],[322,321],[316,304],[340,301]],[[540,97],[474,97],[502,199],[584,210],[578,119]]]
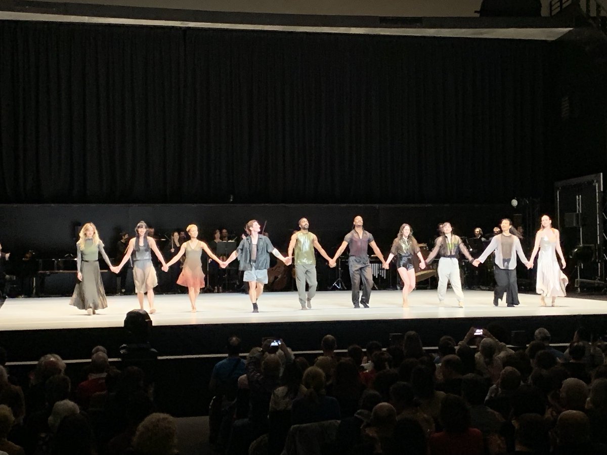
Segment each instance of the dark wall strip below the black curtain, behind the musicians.
[[[75,254],[75,226],[92,221],[108,254],[115,252],[120,231],[134,234],[140,220],[154,226],[159,234],[172,229],[183,229],[197,223],[200,237],[209,240],[212,230],[226,227],[234,236],[243,232],[246,221],[256,218],[263,224],[270,239],[282,252],[297,220],[307,217],[310,230],[333,255],[344,235],[350,231],[356,215],[362,215],[365,227],[387,255],[392,239],[402,223],[413,227],[414,235],[426,243],[435,232],[436,224],[450,220],[461,235],[470,235],[476,226],[490,231],[501,217],[512,217],[513,209],[506,204],[436,204],[436,205],[337,205],[337,204],[259,204],[259,205],[203,205],[203,204],[23,204],[0,205],[3,251],[18,254],[35,250],[39,257],[63,257]],[[15,260],[17,257],[15,257]]]

